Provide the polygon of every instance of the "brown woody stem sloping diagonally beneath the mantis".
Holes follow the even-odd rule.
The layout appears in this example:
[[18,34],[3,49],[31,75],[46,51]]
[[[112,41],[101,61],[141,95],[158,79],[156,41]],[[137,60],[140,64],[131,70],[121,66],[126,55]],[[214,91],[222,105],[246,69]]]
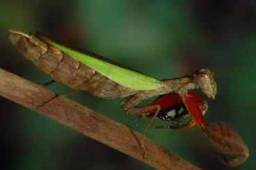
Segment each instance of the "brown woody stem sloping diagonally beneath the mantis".
[[199,169],[147,138],[147,158],[143,159],[143,149],[138,142],[141,134],[63,96],[38,108],[55,93],[1,68],[0,95],[156,169]]

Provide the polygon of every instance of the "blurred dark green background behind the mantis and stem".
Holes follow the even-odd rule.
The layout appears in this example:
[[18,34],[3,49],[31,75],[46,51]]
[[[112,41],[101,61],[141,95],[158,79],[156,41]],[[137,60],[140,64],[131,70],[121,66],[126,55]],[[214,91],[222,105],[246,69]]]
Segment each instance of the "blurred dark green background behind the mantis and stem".
[[[255,1],[10,1],[0,2],[0,67],[35,83],[50,78],[8,42],[8,28],[40,31],[156,78],[173,78],[208,67],[218,95],[209,101],[208,122],[225,121],[250,148],[236,169],[255,168]],[[48,87],[58,93],[61,84]],[[120,99],[87,92],[68,96],[126,124]],[[0,98],[0,169],[152,169],[70,128]],[[141,131],[148,120],[131,128]],[[157,121],[155,124],[161,124]],[[198,128],[150,130],[150,137],[203,169],[230,169],[211,154]]]

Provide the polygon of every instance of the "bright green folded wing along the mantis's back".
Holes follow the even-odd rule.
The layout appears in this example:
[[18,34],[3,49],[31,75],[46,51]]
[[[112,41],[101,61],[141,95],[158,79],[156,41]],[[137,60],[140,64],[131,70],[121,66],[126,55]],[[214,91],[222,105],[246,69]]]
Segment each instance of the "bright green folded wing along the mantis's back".
[[163,87],[163,83],[156,78],[140,74],[130,69],[125,69],[118,65],[114,65],[111,62],[107,62],[86,53],[81,53],[80,51],[70,49],[63,44],[58,44],[53,40],[49,40],[49,38],[45,37],[45,35],[40,35],[40,38],[57,49],[72,56],[72,58],[79,60],[79,62],[82,62],[84,65],[94,69],[100,74],[125,87],[136,90],[154,90],[159,87]]

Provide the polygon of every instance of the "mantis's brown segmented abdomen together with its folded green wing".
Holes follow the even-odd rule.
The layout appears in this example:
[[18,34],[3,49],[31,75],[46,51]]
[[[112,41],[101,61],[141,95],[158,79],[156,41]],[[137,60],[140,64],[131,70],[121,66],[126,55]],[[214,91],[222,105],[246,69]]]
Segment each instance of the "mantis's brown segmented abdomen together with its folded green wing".
[[13,29],[9,32],[10,41],[24,56],[51,78],[70,87],[115,98],[163,86],[155,78],[57,44],[45,35]]

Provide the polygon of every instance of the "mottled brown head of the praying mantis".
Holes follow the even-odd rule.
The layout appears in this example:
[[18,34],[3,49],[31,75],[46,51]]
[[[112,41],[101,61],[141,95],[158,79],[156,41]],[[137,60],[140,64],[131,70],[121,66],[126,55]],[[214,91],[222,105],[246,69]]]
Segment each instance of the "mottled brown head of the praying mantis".
[[195,85],[204,92],[209,99],[215,99],[217,93],[217,85],[214,80],[214,72],[209,69],[198,69],[193,74]]

